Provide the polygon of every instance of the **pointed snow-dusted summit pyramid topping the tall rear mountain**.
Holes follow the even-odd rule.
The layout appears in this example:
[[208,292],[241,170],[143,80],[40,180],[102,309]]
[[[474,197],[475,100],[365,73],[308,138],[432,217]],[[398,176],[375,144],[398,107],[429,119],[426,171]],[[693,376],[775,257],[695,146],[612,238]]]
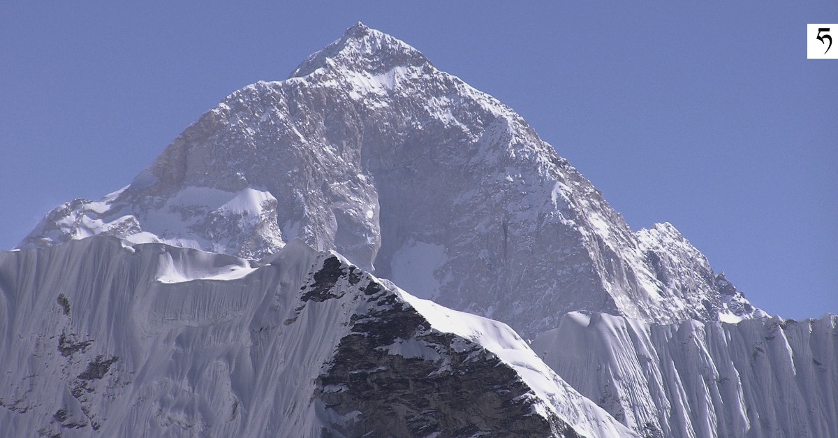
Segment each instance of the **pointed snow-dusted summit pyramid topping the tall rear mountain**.
[[410,44],[358,22],[341,39],[304,60],[290,77],[308,76],[318,69],[382,73],[409,65],[431,62]]

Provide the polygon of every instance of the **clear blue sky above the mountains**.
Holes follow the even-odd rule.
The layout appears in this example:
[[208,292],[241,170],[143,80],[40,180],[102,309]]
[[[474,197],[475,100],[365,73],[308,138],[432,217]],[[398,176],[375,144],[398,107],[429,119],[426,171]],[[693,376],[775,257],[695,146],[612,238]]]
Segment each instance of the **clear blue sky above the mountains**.
[[805,41],[838,3],[116,3],[0,3],[0,248],[362,21],[514,108],[634,229],[673,223],[754,305],[838,313],[838,60]]

